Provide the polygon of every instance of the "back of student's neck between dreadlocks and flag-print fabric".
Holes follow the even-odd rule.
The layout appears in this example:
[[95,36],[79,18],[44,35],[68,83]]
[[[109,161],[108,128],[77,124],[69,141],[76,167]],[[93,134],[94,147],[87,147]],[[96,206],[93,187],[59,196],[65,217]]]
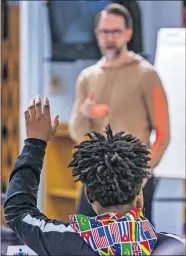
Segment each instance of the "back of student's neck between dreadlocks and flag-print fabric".
[[135,206],[134,205],[119,205],[119,206],[113,206],[113,207],[105,207],[105,208],[100,208],[98,211],[98,215],[104,214],[104,213],[118,213],[121,214],[122,216],[124,216],[125,214],[127,214],[128,212],[130,212],[130,210],[134,209]]

